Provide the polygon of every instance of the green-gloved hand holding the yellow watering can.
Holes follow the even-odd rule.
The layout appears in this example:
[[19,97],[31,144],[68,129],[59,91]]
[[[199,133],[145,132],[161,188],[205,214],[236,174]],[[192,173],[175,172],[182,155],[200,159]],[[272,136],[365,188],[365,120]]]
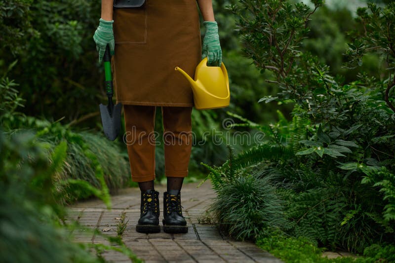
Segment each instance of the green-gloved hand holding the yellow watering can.
[[206,34],[203,38],[201,59],[207,57],[208,64],[218,62],[218,67],[222,64],[222,50],[219,43],[218,25],[215,21],[203,21],[206,26]]

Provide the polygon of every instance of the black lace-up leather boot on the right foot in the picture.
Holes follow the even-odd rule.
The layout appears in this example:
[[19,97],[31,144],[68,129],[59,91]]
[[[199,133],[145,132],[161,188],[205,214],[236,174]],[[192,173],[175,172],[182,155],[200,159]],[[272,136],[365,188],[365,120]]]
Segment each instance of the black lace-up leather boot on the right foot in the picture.
[[166,233],[187,233],[187,221],[182,215],[181,193],[177,195],[163,193],[163,231]]

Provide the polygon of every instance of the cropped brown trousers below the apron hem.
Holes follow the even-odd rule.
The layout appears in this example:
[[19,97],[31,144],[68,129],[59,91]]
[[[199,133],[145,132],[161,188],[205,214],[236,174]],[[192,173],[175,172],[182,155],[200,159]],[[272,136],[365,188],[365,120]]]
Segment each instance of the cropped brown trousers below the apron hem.
[[164,144],[165,176],[187,177],[192,150],[192,107],[161,107],[163,138],[154,131],[156,106],[123,105],[133,182],[155,179],[155,146]]

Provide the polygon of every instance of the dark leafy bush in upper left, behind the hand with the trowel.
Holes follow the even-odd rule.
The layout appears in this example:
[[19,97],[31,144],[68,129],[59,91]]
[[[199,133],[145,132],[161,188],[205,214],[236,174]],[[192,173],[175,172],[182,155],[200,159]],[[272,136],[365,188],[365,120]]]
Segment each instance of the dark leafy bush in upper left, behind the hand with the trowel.
[[[81,102],[102,93],[92,40],[100,2],[82,0],[11,0],[0,3],[0,72],[18,59],[10,72],[20,83],[24,113],[67,120],[92,112]],[[81,56],[84,54],[84,56]],[[99,81],[99,82],[98,82]],[[95,106],[97,107],[97,105]]]

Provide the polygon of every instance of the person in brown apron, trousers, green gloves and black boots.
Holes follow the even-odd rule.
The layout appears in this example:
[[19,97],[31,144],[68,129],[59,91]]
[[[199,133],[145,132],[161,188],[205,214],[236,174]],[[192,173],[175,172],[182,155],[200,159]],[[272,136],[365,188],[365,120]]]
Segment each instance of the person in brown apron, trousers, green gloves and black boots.
[[[188,175],[192,150],[193,92],[174,69],[191,77],[205,57],[221,66],[222,50],[212,0],[145,0],[138,7],[114,7],[102,0],[101,18],[93,39],[102,61],[110,46],[114,89],[123,105],[132,181],[141,190],[136,231],[160,232],[159,192],[154,188],[156,107],[161,107],[167,191],[163,193],[163,230],[188,232],[182,215],[181,188]],[[205,26],[201,43],[199,10]]]

